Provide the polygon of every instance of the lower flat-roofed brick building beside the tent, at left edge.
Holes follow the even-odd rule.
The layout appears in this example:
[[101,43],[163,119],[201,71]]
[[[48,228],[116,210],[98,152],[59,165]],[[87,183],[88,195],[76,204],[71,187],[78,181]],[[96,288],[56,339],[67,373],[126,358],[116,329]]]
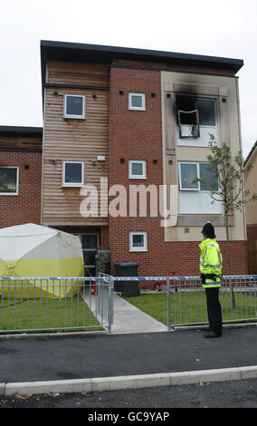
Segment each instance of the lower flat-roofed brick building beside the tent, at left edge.
[[43,129],[0,126],[0,228],[41,222]]

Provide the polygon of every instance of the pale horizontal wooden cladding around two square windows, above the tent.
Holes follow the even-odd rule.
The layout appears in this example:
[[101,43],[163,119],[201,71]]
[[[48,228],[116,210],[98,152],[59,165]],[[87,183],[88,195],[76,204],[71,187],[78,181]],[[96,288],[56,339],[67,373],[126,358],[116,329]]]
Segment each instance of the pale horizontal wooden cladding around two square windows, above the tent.
[[[81,82],[80,82],[81,83]],[[54,94],[58,92],[58,94]],[[64,119],[65,94],[82,94],[86,99],[85,120]],[[97,224],[108,218],[83,218],[80,206],[85,196],[80,188],[62,187],[62,161],[84,162],[84,183],[98,189],[100,177],[108,177],[109,92],[89,89],[45,89],[43,141],[43,223]],[[105,161],[97,161],[105,155]]]

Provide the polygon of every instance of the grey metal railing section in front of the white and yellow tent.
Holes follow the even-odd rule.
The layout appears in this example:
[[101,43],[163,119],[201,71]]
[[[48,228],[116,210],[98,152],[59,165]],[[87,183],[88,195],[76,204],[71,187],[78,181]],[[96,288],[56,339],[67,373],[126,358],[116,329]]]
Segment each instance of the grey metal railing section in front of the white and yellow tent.
[[0,333],[91,331],[113,319],[113,279],[1,277]]

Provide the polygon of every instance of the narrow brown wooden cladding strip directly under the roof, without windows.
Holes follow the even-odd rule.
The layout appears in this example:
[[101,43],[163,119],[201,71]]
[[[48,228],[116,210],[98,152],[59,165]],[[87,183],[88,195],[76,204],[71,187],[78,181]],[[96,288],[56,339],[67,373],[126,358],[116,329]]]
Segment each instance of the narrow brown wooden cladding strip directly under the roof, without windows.
[[50,61],[47,82],[108,87],[109,65]]

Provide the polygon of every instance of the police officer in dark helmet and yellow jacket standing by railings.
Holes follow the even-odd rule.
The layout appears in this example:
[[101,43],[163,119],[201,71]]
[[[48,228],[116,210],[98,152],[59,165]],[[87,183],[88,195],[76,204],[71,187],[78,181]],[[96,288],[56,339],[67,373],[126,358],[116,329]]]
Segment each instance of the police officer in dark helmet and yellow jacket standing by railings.
[[215,240],[214,227],[207,222],[202,230],[204,241],[199,245],[200,272],[202,286],[205,288],[207,313],[210,324],[205,337],[220,337],[222,335],[222,309],[219,301],[223,257],[220,247]]

